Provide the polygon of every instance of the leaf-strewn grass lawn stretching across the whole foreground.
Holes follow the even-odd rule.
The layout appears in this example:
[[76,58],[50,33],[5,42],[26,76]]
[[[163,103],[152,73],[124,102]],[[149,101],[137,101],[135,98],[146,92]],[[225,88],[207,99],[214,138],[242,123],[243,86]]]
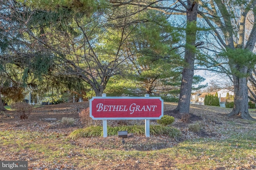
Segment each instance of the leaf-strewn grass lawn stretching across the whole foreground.
[[[211,109],[214,111],[216,107],[209,106],[205,115],[211,113]],[[249,109],[250,115],[254,118],[256,118],[255,110]],[[202,108],[198,111],[202,111]],[[79,142],[71,140],[68,135],[40,129],[36,124],[35,128],[40,130],[31,130],[31,126],[27,130],[14,127],[16,130],[0,131],[0,160],[28,160],[29,169],[49,170],[95,168],[234,170],[238,167],[245,167],[246,164],[256,166],[256,133],[253,130],[256,121],[242,119],[232,121],[230,119],[227,122],[215,124],[217,120],[213,120],[209,121],[209,123],[214,123],[212,135],[218,135],[221,132],[222,135],[228,134],[228,137],[218,139],[200,137],[182,141],[172,147],[155,150],[132,150],[130,149],[133,147],[132,141],[119,146],[111,141],[112,138],[105,141],[102,137],[88,138],[88,143],[80,146]],[[223,131],[218,131],[220,127]],[[161,138],[161,135],[158,137]],[[104,147],[105,149],[98,147],[99,145],[92,143],[93,138],[96,138],[96,143],[102,143],[108,147]],[[97,147],[94,147],[95,145]],[[146,146],[143,148],[147,146],[150,148],[152,143],[144,145]]]

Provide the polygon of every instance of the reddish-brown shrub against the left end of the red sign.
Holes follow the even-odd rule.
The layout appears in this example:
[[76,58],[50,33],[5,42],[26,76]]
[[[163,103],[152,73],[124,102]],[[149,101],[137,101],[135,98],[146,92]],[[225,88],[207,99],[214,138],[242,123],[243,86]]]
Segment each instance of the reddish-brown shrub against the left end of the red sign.
[[90,108],[82,109],[79,112],[80,121],[84,124],[85,127],[89,127],[92,125],[100,125],[100,120],[92,120],[90,117]]

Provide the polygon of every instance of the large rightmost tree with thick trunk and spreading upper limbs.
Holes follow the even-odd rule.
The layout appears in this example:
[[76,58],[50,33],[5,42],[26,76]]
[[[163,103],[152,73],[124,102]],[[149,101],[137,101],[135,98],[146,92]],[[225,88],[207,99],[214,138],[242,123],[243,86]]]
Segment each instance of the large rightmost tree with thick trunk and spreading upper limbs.
[[[256,64],[256,22],[249,22],[255,19],[255,0],[212,0],[210,4],[202,6],[204,11],[198,14],[206,20],[210,34],[217,40],[213,42],[209,37],[214,49],[219,44],[217,48],[223,50],[215,61],[210,56],[210,63],[214,67],[219,65],[218,72],[226,72],[234,84],[234,108],[228,116],[254,120],[248,111],[247,83]],[[207,68],[212,67],[207,65]]]

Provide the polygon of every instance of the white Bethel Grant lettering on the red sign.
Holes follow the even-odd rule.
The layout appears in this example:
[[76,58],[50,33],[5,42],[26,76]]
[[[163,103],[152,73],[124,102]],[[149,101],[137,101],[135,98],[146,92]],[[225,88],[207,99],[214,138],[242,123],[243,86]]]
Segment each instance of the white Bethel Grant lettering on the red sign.
[[102,103],[97,104],[96,111],[129,111],[130,114],[134,113],[134,111],[155,111],[156,105],[136,105],[135,103],[131,104],[129,107],[126,105],[104,105]]

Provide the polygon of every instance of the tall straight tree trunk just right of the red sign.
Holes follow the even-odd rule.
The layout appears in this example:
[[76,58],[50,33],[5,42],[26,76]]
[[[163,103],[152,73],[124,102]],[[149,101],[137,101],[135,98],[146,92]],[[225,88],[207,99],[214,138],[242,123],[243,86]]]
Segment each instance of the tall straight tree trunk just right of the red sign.
[[186,47],[184,54],[184,67],[182,71],[182,82],[180,87],[180,98],[176,111],[179,113],[189,113],[190,96],[192,91],[192,81],[194,76],[195,44],[196,44],[196,19],[198,3],[196,0],[187,1],[187,28]]

